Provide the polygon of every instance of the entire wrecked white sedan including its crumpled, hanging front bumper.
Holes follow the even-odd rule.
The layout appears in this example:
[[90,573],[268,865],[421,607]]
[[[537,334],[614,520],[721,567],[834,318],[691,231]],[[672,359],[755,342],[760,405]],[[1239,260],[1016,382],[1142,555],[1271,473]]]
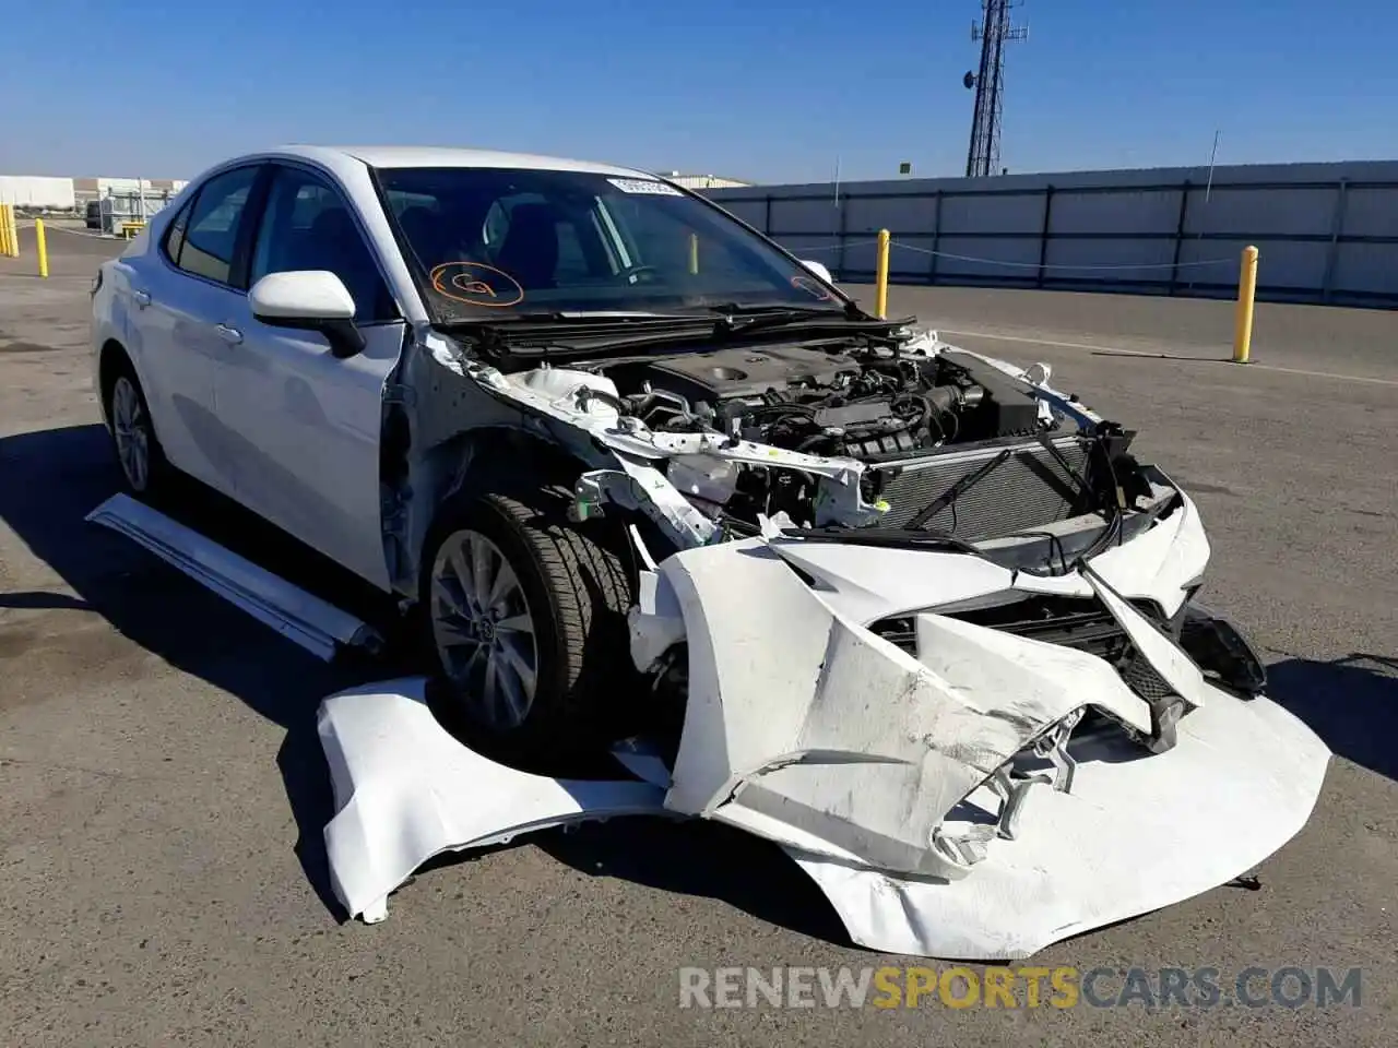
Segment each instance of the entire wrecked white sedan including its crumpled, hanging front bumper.
[[485,738],[640,717],[664,806],[787,847],[861,940],[1018,956],[1318,792],[1131,429],[663,177],[242,157],[103,264],[94,359],[133,493],[190,474],[396,597]]

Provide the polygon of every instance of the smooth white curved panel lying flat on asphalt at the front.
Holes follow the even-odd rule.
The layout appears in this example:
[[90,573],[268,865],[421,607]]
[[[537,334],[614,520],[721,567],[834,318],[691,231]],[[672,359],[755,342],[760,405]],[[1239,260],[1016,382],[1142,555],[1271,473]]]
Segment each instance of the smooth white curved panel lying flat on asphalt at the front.
[[[1264,861],[1302,830],[1325,745],[1267,699],[1216,689],[1167,753],[1074,746],[1071,794],[1035,787],[1021,833],[962,880],[900,879],[788,848],[854,942],[888,953],[1015,960],[1173,905]],[[993,805],[986,792],[973,795]]]

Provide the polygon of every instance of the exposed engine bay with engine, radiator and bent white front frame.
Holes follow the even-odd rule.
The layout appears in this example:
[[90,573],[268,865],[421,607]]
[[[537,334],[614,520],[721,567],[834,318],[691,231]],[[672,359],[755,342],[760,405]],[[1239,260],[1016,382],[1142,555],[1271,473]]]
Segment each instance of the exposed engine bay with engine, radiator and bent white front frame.
[[[858,541],[882,531],[888,541],[970,544],[1083,514],[1100,514],[1106,542],[1151,493],[1128,454],[1134,433],[935,338],[808,335],[688,351],[661,340],[654,352],[611,355],[656,335],[575,334],[563,367],[547,359],[552,342],[528,331],[496,331],[484,345],[509,367],[509,386],[615,419],[600,425],[658,451],[642,451],[650,464],[632,468],[658,472],[642,481],[647,490],[670,490],[672,504],[656,513],[678,546],[773,525],[833,527],[842,541],[854,541],[853,530]],[[847,470],[851,460],[858,470]],[[639,478],[625,472],[605,481],[617,485],[610,495],[587,481],[579,504],[619,497],[635,509]],[[1061,560],[1064,545],[1047,541]]]

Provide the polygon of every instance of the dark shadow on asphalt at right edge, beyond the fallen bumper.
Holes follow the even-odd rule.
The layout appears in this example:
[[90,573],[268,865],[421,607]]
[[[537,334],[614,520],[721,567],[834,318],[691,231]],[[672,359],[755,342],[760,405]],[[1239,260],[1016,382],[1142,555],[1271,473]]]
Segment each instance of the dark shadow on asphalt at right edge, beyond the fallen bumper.
[[1332,753],[1398,781],[1398,658],[1286,658],[1267,668],[1267,682]]

